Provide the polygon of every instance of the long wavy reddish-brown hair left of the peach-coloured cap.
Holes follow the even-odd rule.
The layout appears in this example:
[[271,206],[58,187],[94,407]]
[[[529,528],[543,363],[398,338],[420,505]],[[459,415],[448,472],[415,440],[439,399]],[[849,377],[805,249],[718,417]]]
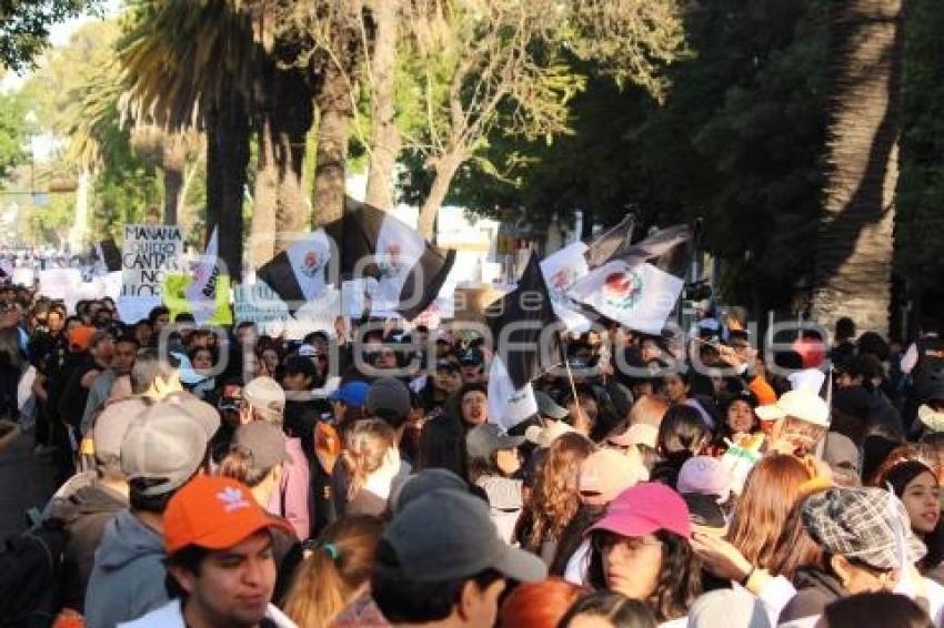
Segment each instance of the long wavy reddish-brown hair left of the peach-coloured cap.
[[591,453],[593,443],[575,432],[563,434],[551,444],[531,497],[531,551],[540,551],[545,539],[560,538],[573,518],[580,506],[580,465]]

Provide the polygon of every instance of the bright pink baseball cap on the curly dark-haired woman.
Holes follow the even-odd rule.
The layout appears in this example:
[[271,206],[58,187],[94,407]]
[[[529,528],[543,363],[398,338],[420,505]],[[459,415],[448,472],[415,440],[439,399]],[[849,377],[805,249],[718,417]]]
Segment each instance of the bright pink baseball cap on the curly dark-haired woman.
[[682,496],[657,483],[642,483],[616,496],[606,514],[588,530],[606,530],[620,536],[639,537],[669,530],[692,538],[689,507]]

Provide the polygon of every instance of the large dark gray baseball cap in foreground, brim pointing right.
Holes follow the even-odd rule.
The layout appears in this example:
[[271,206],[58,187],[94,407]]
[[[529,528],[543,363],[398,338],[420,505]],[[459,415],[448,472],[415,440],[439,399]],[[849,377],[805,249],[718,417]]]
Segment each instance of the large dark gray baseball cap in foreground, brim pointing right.
[[489,505],[469,493],[440,489],[411,500],[381,537],[375,576],[444,583],[495,569],[522,583],[548,576],[544,563],[504,543]]

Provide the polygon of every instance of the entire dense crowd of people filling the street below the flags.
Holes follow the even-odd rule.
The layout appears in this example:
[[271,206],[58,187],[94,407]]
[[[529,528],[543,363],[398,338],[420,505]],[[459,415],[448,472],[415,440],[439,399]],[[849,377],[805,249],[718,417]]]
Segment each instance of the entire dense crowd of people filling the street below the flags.
[[933,320],[907,347],[842,320],[776,355],[716,322],[681,343],[564,334],[568,368],[509,429],[493,347],[459,327],[289,342],[24,287],[0,291],[0,409],[59,476],[30,534],[61,543],[8,620],[944,621]]

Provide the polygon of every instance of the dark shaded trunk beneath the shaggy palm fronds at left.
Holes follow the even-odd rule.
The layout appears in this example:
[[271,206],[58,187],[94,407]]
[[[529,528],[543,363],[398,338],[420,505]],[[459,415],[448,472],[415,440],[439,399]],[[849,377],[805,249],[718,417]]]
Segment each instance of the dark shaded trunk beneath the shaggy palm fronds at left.
[[242,281],[242,200],[251,130],[245,100],[235,92],[210,115],[207,139],[207,233],[219,227],[220,259]]

